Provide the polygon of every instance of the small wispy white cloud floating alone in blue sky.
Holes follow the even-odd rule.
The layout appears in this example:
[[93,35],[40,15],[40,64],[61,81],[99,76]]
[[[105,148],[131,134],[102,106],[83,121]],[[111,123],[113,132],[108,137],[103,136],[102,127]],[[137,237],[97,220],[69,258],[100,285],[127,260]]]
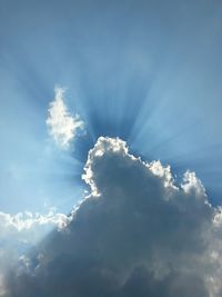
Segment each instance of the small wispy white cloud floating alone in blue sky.
[[50,103],[47,126],[49,133],[61,148],[68,148],[84,123],[79,115],[71,116],[64,103],[64,89],[56,88],[56,98]]

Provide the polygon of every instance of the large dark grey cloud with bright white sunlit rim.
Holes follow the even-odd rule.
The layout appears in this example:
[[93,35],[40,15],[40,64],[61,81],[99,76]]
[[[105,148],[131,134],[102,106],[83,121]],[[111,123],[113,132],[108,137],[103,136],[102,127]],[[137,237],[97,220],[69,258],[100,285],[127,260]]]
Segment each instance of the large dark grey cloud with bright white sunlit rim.
[[221,209],[193,172],[175,186],[169,166],[103,137],[84,171],[91,194],[20,260],[4,296],[221,297]]

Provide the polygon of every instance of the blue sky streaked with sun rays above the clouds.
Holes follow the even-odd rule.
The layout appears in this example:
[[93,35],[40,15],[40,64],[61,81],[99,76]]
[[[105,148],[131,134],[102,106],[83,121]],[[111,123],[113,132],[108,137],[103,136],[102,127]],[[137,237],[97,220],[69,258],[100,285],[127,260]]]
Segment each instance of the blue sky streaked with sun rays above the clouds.
[[[0,209],[69,211],[99,136],[194,170],[221,204],[221,1],[0,2]],[[49,139],[54,86],[87,123],[70,151]]]

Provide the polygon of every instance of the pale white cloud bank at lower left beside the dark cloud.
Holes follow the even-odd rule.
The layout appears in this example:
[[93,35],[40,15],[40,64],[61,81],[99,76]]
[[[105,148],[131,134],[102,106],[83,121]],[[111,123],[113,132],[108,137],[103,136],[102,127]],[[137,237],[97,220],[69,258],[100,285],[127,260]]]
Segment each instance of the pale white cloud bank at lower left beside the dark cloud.
[[[19,260],[28,259],[23,256],[28,249],[33,248],[40,239],[53,228],[61,231],[70,218],[56,212],[51,208],[48,214],[33,214],[30,211],[17,215],[0,211],[0,296],[3,295],[4,274]],[[26,261],[26,267],[28,261]]]

